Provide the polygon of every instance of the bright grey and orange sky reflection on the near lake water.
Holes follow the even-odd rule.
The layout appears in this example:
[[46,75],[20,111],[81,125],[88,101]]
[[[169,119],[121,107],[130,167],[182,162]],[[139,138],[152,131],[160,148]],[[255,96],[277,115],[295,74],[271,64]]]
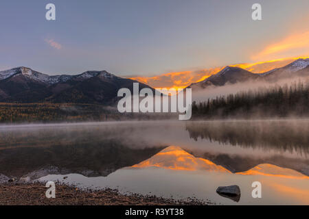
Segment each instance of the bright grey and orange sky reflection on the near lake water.
[[[144,162],[113,172],[108,177],[47,175],[40,181],[62,181],[80,188],[117,188],[157,196],[196,197],[217,204],[238,203],[216,194],[216,188],[239,185],[242,205],[308,205],[309,177],[288,168],[260,164],[246,172],[232,173],[207,159],[190,155],[179,146],[170,146]],[[262,198],[253,198],[251,183],[262,183]]]

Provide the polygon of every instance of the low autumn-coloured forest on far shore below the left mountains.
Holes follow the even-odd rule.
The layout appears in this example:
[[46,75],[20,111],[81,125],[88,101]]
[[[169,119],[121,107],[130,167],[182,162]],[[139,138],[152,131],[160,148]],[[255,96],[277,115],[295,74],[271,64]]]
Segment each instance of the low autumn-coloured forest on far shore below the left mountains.
[[[78,103],[0,103],[0,123],[148,120],[153,114],[121,114],[113,107]],[[161,114],[161,119],[169,118]],[[153,118],[152,118],[153,119]]]

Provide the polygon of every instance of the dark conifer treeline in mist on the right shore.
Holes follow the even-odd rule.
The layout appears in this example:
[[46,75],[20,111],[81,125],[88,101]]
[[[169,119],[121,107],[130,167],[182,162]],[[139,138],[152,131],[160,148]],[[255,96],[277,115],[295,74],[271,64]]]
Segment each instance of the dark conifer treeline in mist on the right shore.
[[309,116],[308,81],[216,96],[192,103],[193,118],[262,118]]

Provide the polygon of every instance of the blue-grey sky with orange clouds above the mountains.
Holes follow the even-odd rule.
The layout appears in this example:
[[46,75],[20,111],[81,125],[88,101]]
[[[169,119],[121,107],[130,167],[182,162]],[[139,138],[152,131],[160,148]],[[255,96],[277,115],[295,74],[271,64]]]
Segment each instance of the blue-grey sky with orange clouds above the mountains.
[[226,65],[308,56],[308,11],[308,0],[1,0],[0,70],[198,81]]

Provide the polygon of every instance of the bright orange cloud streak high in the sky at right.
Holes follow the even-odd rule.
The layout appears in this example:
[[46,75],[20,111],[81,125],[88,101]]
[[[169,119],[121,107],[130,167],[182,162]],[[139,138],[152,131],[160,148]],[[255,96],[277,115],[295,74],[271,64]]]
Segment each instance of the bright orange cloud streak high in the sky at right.
[[290,35],[283,40],[274,44],[268,45],[258,55],[253,55],[253,60],[259,60],[268,55],[278,55],[279,53],[290,51],[293,49],[305,49],[309,48],[309,31],[305,31],[299,34]]

